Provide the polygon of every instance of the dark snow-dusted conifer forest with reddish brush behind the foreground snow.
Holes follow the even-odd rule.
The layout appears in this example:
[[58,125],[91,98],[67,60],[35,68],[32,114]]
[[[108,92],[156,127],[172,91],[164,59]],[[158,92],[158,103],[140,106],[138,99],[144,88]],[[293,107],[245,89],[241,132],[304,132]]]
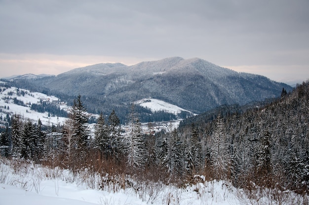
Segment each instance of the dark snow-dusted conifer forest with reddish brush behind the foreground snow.
[[132,105],[129,129],[122,129],[113,110],[107,117],[100,115],[91,132],[78,96],[70,119],[61,127],[45,127],[14,115],[0,136],[1,155],[76,173],[87,169],[102,176],[138,175],[141,180],[180,187],[198,174],[246,190],[262,187],[307,196],[309,82],[292,92],[283,89],[280,98],[263,106],[241,112],[226,107],[210,118],[184,121],[178,129],[160,133],[154,133],[149,123],[149,132],[142,133]]

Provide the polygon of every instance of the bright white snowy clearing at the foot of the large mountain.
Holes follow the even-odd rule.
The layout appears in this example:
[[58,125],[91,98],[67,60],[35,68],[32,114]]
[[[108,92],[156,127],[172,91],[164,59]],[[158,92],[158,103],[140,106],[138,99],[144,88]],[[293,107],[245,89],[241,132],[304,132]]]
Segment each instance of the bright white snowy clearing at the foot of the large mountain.
[[[174,104],[164,102],[164,101],[161,101],[161,100],[157,100],[157,99],[142,99],[142,100],[139,100],[139,101],[135,101],[133,103],[139,104],[140,106],[145,107],[145,108],[149,108],[149,109],[151,109],[152,112],[166,111],[166,112],[172,113],[172,114],[178,114],[181,111],[190,112],[190,111],[185,110],[181,107],[178,107]],[[190,113],[192,113],[192,112],[190,112]]]

